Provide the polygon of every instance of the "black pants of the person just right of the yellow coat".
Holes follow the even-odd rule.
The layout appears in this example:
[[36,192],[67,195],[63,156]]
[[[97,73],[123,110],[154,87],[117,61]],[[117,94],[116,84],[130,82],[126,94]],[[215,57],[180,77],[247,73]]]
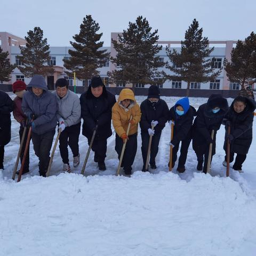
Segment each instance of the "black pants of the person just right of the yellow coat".
[[[150,160],[149,164],[156,164],[156,155],[158,153],[158,145],[162,132],[155,133],[152,136],[151,148],[150,148]],[[141,153],[143,158],[143,168],[146,167],[147,154],[148,154],[148,143],[149,134],[148,132],[141,132]]]

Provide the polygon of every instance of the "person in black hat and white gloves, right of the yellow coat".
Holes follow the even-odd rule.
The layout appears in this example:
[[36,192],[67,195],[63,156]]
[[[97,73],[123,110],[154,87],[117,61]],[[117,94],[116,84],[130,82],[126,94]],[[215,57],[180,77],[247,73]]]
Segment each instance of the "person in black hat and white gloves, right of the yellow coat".
[[[156,169],[156,156],[158,153],[158,145],[162,130],[167,122],[169,108],[166,102],[160,99],[160,91],[156,85],[151,85],[148,89],[148,98],[141,102],[141,153],[143,159],[142,172],[148,171],[146,169],[147,151],[149,144],[149,137],[152,135],[150,160],[151,169]],[[154,124],[154,129],[151,125]],[[148,166],[147,166],[148,167]]]

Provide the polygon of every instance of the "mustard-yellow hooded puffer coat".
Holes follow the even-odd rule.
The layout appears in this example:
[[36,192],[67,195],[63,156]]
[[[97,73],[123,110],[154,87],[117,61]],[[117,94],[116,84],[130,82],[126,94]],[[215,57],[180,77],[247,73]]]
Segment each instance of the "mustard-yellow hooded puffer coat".
[[[125,99],[132,100],[128,108],[124,108],[121,103],[121,101]],[[138,123],[140,122],[141,117],[141,111],[140,106],[135,100],[133,91],[131,89],[125,88],[120,92],[118,101],[112,108],[112,122],[114,129],[119,137],[121,137],[122,134],[126,133],[131,115],[132,119],[135,121],[135,124],[131,124],[128,135],[137,133]]]

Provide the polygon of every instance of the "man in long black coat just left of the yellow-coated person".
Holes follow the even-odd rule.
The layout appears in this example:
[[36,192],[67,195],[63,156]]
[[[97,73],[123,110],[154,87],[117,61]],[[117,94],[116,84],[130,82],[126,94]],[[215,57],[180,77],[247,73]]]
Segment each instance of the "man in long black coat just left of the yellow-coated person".
[[96,131],[92,151],[94,162],[98,163],[100,171],[106,170],[107,139],[112,135],[111,109],[115,102],[115,95],[106,90],[99,76],[92,77],[88,90],[80,97],[81,116],[84,121],[82,134],[90,145],[93,132]]

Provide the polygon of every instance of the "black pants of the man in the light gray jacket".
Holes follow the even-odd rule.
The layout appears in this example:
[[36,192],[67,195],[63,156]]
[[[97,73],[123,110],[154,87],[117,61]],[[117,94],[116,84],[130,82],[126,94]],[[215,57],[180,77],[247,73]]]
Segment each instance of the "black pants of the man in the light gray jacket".
[[71,125],[66,127],[65,130],[60,134],[60,138],[59,138],[60,156],[64,164],[69,164],[68,146],[70,147],[73,153],[73,157],[78,156],[79,154],[78,139],[80,134],[80,128],[81,128],[81,123]]

